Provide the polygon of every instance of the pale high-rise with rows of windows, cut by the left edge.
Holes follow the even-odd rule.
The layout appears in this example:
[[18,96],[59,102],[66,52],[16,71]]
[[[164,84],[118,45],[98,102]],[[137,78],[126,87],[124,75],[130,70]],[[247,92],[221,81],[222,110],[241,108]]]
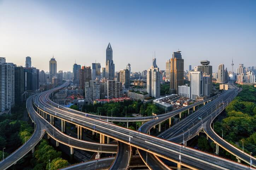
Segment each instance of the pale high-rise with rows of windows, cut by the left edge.
[[0,57],[0,115],[11,113],[14,106],[14,64]]

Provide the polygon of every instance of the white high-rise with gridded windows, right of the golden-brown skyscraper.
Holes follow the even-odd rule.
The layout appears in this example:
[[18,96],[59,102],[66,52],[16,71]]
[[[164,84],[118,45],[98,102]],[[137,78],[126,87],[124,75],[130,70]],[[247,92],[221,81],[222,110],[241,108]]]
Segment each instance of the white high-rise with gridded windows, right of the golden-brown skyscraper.
[[190,72],[190,98],[203,96],[203,75],[201,71]]

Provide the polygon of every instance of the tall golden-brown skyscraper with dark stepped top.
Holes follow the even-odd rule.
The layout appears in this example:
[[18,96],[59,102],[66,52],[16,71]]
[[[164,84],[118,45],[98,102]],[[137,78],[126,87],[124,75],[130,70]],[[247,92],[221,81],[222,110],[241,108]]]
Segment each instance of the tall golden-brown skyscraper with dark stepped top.
[[178,93],[178,86],[184,84],[184,59],[181,51],[173,52],[170,65],[170,93]]

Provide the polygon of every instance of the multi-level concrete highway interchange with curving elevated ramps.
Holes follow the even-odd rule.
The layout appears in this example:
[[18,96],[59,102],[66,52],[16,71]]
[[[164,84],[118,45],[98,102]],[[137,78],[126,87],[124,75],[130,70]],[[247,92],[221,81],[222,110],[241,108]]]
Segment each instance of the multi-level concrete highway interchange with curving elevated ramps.
[[[170,160],[177,164],[177,168],[187,167],[190,169],[254,169],[256,168],[254,157],[237,149],[218,136],[211,127],[211,122],[225,109],[239,92],[233,84],[229,84],[229,90],[210,99],[194,103],[187,107],[173,112],[158,115],[158,117],[139,118],[118,118],[99,117],[75,111],[63,106],[59,106],[51,100],[51,95],[56,90],[69,85],[66,81],[61,86],[30,96],[27,100],[27,110],[31,120],[35,123],[35,132],[31,138],[19,147],[10,156],[0,162],[0,169],[7,169],[15,164],[26,153],[35,149],[36,144],[46,133],[48,138],[70,147],[70,154],[74,153],[74,148],[93,151],[98,153],[116,153],[116,157],[91,160],[89,162],[69,166],[65,169],[128,169],[132,158],[131,148],[135,147],[142,160],[149,169],[170,169],[162,162],[162,159]],[[161,126],[161,122],[171,120],[175,115],[187,109],[192,109],[197,105],[202,105],[197,111],[188,115],[178,123],[171,125],[168,130],[159,134],[158,137],[151,136],[150,129]],[[198,118],[201,119],[198,119]],[[54,126],[54,120],[61,120],[61,128]],[[138,131],[129,130],[112,124],[113,121],[141,121],[144,123]],[[77,127],[77,138],[65,134],[65,124],[69,122]],[[171,122],[171,121],[170,121]],[[100,134],[100,143],[81,140],[82,129]],[[159,128],[161,130],[161,128]],[[216,144],[216,155],[211,155],[186,146],[186,141],[196,136],[199,132],[204,132],[208,138]],[[109,140],[114,139],[117,143],[109,144]],[[237,162],[218,157],[219,147],[222,147],[237,158]],[[240,164],[240,161],[248,163],[250,166]],[[122,161],[122,164],[120,162]]]

